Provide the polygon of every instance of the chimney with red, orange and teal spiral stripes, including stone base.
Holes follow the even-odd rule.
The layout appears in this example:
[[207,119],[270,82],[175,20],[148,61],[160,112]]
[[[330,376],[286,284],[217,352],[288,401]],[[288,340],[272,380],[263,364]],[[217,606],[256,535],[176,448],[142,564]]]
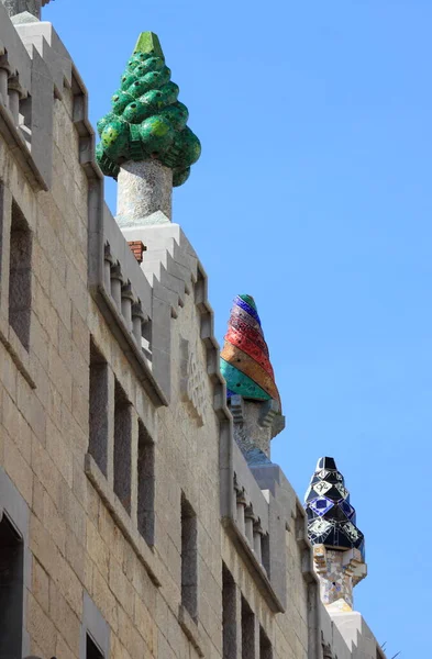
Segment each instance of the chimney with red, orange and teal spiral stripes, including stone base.
[[285,427],[280,395],[267,343],[251,295],[237,295],[231,310],[221,372],[226,381],[234,434],[246,459],[268,461],[270,440]]

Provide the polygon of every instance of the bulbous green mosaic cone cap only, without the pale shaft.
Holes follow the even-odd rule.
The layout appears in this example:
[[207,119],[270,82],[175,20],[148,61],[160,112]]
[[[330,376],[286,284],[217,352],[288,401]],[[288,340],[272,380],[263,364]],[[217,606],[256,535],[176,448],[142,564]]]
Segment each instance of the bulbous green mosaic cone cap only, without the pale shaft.
[[201,145],[178,93],[158,37],[141,33],[111,111],[98,122],[97,159],[106,176],[117,179],[123,163],[153,159],[173,170],[174,186],[188,179]]

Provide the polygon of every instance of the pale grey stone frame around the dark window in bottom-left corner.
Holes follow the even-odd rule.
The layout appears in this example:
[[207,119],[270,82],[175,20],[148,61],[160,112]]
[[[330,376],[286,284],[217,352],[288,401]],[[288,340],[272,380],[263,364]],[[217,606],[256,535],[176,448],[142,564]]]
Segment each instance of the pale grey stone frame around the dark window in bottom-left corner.
[[23,544],[23,608],[22,608],[22,656],[30,652],[30,635],[26,628],[27,593],[32,590],[32,554],[30,551],[30,509],[12,480],[0,467],[0,520],[3,515],[22,538]]

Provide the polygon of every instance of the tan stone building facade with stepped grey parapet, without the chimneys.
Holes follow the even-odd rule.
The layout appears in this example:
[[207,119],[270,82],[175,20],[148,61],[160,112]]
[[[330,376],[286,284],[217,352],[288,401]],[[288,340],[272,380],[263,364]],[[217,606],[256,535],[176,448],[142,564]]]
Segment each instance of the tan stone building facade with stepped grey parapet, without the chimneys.
[[280,468],[235,439],[251,403],[228,406],[188,238],[104,204],[40,5],[0,3],[0,657],[381,659],[321,603]]

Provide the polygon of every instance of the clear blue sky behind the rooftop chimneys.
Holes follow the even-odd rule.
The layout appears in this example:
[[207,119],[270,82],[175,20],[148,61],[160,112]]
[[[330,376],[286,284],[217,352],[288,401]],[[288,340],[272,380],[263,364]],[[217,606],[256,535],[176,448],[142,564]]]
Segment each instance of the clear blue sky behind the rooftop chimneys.
[[[302,498],[334,456],[366,536],[356,589],[388,657],[430,648],[430,0],[58,0],[45,10],[104,114],[139,32],[157,32],[201,138],[175,191],[222,342],[255,297]],[[115,187],[107,185],[114,210]]]

